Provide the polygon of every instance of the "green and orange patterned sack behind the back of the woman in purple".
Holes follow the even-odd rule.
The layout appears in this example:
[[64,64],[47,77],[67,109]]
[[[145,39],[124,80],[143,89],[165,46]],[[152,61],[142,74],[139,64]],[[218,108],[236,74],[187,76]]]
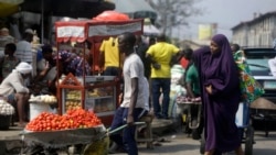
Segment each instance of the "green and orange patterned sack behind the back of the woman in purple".
[[240,71],[240,88],[242,91],[242,101],[252,103],[254,100],[265,93],[264,88],[251,75],[246,62],[237,64]]

